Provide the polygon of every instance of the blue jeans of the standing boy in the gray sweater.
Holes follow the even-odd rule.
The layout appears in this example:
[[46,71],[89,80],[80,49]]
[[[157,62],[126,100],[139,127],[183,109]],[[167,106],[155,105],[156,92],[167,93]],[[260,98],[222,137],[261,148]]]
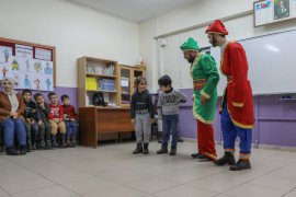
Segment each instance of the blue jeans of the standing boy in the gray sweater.
[[179,114],[162,115],[162,147],[168,147],[170,134],[172,135],[172,146],[177,147]]

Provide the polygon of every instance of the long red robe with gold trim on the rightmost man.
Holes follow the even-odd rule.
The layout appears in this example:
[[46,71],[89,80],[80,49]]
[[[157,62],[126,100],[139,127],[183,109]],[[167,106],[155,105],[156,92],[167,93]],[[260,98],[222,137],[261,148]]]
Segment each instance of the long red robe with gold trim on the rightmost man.
[[248,60],[242,46],[236,42],[229,43],[224,50],[220,66],[221,73],[227,77],[221,107],[227,95],[227,106],[232,123],[240,128],[251,129],[254,125],[254,113],[248,70]]

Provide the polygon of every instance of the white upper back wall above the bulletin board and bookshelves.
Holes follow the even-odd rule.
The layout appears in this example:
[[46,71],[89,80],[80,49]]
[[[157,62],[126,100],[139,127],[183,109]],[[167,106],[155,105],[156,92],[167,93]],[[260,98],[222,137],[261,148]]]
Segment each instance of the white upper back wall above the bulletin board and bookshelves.
[[77,86],[76,60],[135,65],[139,24],[60,0],[0,0],[0,36],[56,46],[57,86]]

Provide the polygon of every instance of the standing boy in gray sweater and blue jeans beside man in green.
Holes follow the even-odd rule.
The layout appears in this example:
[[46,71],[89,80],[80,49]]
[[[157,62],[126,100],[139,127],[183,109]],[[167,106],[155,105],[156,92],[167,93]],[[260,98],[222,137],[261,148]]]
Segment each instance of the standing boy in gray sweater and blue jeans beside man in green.
[[172,80],[169,76],[163,76],[158,80],[162,92],[159,93],[158,107],[160,108],[159,117],[162,117],[162,146],[158,154],[168,153],[168,141],[172,135],[170,155],[177,153],[178,142],[178,123],[179,123],[179,104],[185,103],[186,97],[180,91],[172,88]]

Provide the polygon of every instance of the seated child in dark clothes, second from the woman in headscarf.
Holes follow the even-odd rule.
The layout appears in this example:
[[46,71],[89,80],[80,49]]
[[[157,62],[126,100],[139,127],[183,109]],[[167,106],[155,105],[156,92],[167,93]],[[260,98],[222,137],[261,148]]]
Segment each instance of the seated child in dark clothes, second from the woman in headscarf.
[[[37,104],[37,113],[39,114],[39,120],[38,120],[38,131],[39,131],[39,139],[41,141],[46,141],[45,148],[50,149],[52,148],[52,140],[50,140],[50,134],[52,134],[52,126],[47,118],[47,115],[49,113],[48,104],[44,102],[44,96],[41,93],[34,94],[34,100]],[[43,146],[41,146],[43,148]]]

